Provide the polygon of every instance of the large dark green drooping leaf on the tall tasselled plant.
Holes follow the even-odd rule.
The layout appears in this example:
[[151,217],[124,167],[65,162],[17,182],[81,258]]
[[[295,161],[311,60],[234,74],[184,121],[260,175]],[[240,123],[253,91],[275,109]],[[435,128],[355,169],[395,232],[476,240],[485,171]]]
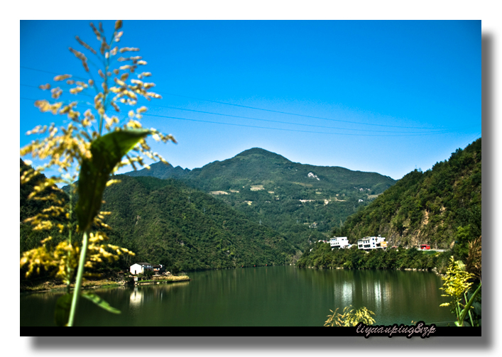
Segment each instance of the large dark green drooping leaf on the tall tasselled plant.
[[115,165],[149,133],[147,129],[114,131],[92,141],[92,158],[82,160],[80,167],[79,200],[75,207],[80,231],[87,230],[99,213],[103,192]]

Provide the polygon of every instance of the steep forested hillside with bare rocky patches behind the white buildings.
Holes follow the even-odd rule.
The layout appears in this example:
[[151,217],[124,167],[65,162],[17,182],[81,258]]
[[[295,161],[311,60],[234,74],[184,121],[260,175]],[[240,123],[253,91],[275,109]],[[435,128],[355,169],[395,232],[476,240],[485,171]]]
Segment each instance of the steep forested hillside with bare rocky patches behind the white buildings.
[[333,232],[354,242],[381,234],[393,245],[448,248],[481,236],[481,138],[432,170],[415,170]]

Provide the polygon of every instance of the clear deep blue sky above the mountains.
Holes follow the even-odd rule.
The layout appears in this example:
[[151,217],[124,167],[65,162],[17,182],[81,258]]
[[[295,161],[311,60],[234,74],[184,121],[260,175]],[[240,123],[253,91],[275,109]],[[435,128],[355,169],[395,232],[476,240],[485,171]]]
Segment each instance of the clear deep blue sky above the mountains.
[[[47,97],[36,87],[55,74],[86,75],[68,47],[82,50],[75,35],[98,47],[89,22],[21,21],[21,145],[33,126],[67,122],[33,99]],[[114,21],[103,25],[111,35]],[[175,136],[177,145],[153,145],[175,166],[258,147],[400,179],[481,137],[481,21],[124,21],[123,30],[119,45],[141,48],[163,96],[146,104],[143,126]]]

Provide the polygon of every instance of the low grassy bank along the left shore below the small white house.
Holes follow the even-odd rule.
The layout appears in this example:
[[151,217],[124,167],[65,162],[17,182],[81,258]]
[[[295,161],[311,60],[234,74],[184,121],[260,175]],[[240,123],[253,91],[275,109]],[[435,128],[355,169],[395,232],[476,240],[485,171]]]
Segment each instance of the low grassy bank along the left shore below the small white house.
[[[146,285],[146,284],[160,284],[160,283],[168,283],[168,282],[178,282],[178,281],[188,281],[190,278],[187,275],[181,276],[153,276],[151,280],[141,280],[136,282],[136,285]],[[109,288],[109,287],[119,287],[127,284],[134,284],[131,280],[111,280],[111,279],[102,279],[102,280],[87,280],[82,283],[82,289],[97,289],[97,288]],[[70,287],[74,287],[74,284],[71,284]],[[48,280],[38,284],[28,284],[27,282],[21,282],[20,290],[21,292],[55,292],[62,291],[66,289],[65,284],[61,284],[59,280]]]

